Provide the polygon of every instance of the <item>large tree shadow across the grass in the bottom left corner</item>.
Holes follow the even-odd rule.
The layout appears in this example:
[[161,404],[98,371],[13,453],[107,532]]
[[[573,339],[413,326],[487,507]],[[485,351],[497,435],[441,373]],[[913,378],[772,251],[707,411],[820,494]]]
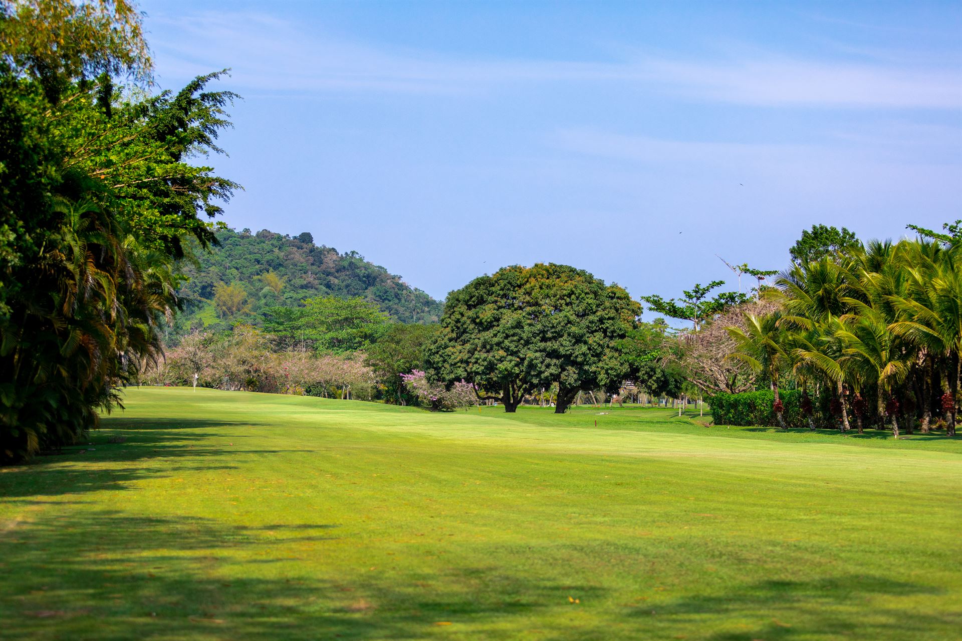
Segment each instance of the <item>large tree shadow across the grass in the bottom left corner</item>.
[[[266,538],[265,529],[285,536]],[[557,607],[566,589],[602,597],[596,587],[493,568],[450,568],[423,577],[431,585],[367,572],[323,579],[323,555],[305,569],[296,553],[305,544],[322,550],[337,532],[332,524],[248,529],[107,510],[23,522],[0,534],[4,638],[414,639],[438,623],[484,629],[537,614]],[[504,584],[497,597],[492,583]]]

